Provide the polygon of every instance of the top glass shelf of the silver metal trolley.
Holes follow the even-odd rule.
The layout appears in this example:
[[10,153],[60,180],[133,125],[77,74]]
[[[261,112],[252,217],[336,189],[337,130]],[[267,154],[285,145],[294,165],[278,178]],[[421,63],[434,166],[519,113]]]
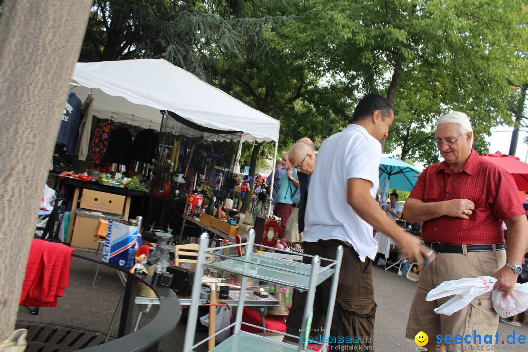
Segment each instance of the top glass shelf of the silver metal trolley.
[[[293,287],[299,290],[307,290],[310,284],[311,264],[294,262],[266,254],[251,253],[251,263],[246,256],[240,258],[226,259],[214,263],[204,263],[205,267],[239,274],[266,282]],[[269,267],[263,266],[269,265]],[[317,285],[334,274],[334,269],[319,270]]]

